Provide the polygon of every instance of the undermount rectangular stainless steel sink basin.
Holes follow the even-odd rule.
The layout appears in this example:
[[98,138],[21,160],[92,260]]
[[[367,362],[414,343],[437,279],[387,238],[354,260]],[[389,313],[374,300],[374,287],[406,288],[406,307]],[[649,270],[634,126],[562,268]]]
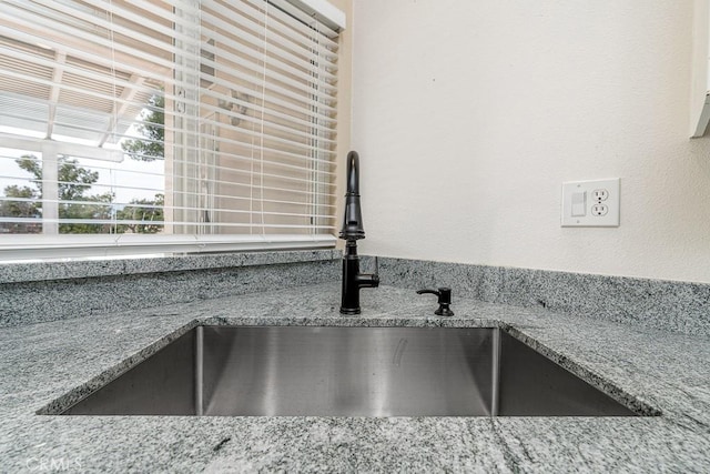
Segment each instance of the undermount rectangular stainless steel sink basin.
[[632,416],[498,329],[199,326],[68,415]]

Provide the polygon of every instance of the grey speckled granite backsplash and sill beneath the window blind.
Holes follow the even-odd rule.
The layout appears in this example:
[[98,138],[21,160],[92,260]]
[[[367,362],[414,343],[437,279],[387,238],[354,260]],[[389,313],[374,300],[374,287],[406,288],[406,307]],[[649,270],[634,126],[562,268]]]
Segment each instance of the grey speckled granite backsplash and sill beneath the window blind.
[[0,327],[331,282],[336,250],[0,264]]

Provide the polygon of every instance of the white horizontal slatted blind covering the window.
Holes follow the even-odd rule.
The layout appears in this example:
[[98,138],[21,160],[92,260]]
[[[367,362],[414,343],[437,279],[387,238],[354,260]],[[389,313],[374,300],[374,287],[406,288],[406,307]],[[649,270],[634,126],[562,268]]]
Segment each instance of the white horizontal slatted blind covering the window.
[[298,4],[0,0],[0,252],[332,245],[338,33]]

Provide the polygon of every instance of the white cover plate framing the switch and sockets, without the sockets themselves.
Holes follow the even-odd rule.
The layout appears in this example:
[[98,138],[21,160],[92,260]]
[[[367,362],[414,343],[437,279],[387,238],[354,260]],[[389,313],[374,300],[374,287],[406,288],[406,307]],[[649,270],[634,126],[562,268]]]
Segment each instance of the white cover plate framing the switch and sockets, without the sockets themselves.
[[[569,181],[562,183],[561,226],[562,228],[618,228],[621,184],[620,179],[597,181]],[[607,190],[609,196],[604,201],[594,198],[595,191]],[[572,195],[585,193],[585,215],[572,215]],[[579,195],[579,194],[577,194]],[[575,202],[579,202],[577,199]],[[594,215],[591,209],[604,204],[609,210],[605,215]],[[575,214],[579,214],[578,209]]]

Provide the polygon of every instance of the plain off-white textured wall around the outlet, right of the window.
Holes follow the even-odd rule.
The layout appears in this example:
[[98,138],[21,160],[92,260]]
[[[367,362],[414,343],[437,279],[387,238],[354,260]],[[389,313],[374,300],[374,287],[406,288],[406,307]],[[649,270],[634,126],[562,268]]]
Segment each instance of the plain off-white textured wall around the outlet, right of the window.
[[[710,282],[692,1],[356,0],[361,253]],[[621,226],[560,228],[621,178]]]

